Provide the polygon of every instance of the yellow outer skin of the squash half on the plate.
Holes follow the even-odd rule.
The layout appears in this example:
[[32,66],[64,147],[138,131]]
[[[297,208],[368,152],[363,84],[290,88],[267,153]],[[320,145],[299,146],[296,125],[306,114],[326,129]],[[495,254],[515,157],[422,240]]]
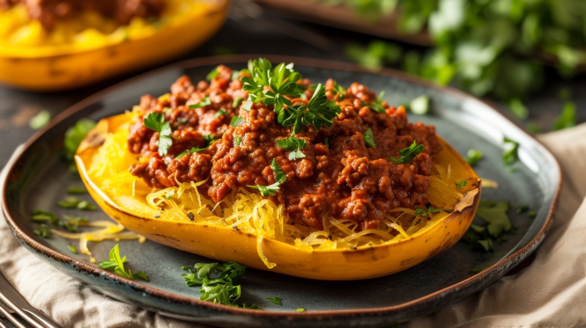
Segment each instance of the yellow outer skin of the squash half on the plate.
[[[438,154],[437,161],[450,165],[455,179],[468,180],[467,192],[455,205],[454,212],[403,240],[363,246],[356,250],[309,250],[231,227],[154,218],[156,211],[144,199],[133,199],[133,209],[115,203],[112,198],[120,195],[103,190],[99,179],[94,179],[87,170],[91,160],[95,160],[94,155],[103,143],[104,135],[115,131],[128,118],[128,114],[122,114],[102,119],[81,143],[75,160],[87,190],[105,213],[129,230],[160,244],[217,261],[231,260],[252,268],[322,280],[389,275],[413,267],[452,247],[472,223],[480,199],[481,180],[458,152],[440,139],[444,149]],[[128,182],[129,190],[131,184]],[[268,269],[261,261],[257,245],[260,245],[268,261],[276,264],[274,268]]]

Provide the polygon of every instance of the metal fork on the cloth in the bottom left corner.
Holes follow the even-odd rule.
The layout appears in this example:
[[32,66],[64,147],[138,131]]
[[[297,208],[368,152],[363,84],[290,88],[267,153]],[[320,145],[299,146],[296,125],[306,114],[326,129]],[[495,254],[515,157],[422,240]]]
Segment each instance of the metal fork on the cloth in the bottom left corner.
[[[13,313],[18,314],[33,328],[61,328],[42,312],[30,306],[29,302],[26,302],[26,299],[16,291],[0,272],[0,317],[4,316],[18,328],[28,328],[13,316]],[[0,322],[0,328],[3,328],[2,326],[4,324]]]

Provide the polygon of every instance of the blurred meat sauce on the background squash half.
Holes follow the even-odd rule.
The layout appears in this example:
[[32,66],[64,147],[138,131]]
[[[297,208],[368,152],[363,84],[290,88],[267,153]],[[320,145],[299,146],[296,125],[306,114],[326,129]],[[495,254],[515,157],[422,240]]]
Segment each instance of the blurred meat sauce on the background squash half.
[[134,17],[157,18],[165,8],[164,0],[0,0],[0,9],[8,9],[22,2],[33,20],[39,20],[46,29],[55,22],[83,11],[98,12],[104,17],[127,25]]

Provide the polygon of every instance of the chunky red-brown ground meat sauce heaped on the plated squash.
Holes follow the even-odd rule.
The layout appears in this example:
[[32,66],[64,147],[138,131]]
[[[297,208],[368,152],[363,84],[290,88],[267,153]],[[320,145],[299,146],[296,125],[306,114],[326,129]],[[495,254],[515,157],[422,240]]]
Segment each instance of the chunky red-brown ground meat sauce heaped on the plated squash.
[[[275,140],[291,135],[291,127],[278,124],[272,105],[255,103],[250,111],[242,110],[240,107],[248,97],[242,82],[239,78],[231,80],[233,71],[227,67],[219,66],[217,72],[210,83],[200,81],[194,86],[189,77],[183,76],[171,86],[168,97],[141,98],[144,117],[149,112],[165,115],[173,130],[173,144],[161,158],[158,132],[146,128],[142,117],[134,122],[128,147],[149,160],[132,165],[132,175],[157,188],[207,179],[202,191],[219,201],[231,190],[275,183],[270,165],[276,159],[287,181],[270,198],[285,204],[292,220],[317,229],[323,229],[322,220],[327,217],[354,221],[359,230],[377,228],[381,218],[396,207],[413,208],[428,203],[432,158],[441,145],[435,128],[408,123],[403,107],[389,108],[383,102],[386,112],[370,110],[366,104],[375,101],[374,93],[353,83],[339,101],[342,112],[333,125],[322,127],[319,132],[312,125],[305,126],[296,135],[308,144],[301,149],[305,158],[289,160],[289,152],[277,146]],[[309,86],[308,80],[299,83]],[[328,80],[326,95],[329,100],[338,100],[333,86],[333,80]],[[312,94],[308,88],[306,99],[292,99],[293,105],[308,102]],[[189,108],[206,96],[210,105]],[[235,99],[242,101],[233,108]],[[226,114],[216,115],[220,110]],[[243,117],[244,124],[231,127],[234,115]],[[372,129],[376,148],[364,144],[362,133],[368,128]],[[205,151],[175,158],[186,149],[205,147],[210,136],[217,140]],[[324,144],[326,138],[329,146]],[[410,163],[389,160],[389,156],[398,158],[399,151],[413,141],[423,144],[424,152]]]

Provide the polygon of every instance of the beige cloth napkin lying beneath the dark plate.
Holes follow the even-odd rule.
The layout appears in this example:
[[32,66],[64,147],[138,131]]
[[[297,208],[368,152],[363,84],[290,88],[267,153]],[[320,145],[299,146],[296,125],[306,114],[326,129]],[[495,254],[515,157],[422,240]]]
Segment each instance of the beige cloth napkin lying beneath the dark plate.
[[[540,137],[564,173],[560,205],[533,263],[403,327],[586,327],[586,124]],[[0,220],[0,270],[63,327],[207,327],[102,296],[37,259]]]

